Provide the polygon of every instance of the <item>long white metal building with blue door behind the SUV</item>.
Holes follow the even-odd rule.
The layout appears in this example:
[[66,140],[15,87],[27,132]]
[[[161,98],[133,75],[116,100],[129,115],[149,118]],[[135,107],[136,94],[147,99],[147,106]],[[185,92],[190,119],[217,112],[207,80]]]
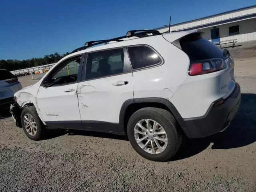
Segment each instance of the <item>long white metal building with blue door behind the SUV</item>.
[[[156,30],[166,32],[168,28]],[[203,37],[214,43],[253,41],[256,40],[256,5],[174,24],[170,30],[202,30]]]

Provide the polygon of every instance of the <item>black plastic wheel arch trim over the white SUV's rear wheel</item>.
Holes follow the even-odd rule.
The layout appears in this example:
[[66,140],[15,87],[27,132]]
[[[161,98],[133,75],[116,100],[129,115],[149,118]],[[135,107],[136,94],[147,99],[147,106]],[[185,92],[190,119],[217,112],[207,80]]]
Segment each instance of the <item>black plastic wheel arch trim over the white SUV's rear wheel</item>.
[[128,124],[128,120],[134,112],[144,107],[156,107],[168,110],[176,118],[181,127],[182,117],[176,107],[169,100],[165,98],[136,98],[126,100],[123,103],[119,114],[118,132],[127,134],[126,126]]

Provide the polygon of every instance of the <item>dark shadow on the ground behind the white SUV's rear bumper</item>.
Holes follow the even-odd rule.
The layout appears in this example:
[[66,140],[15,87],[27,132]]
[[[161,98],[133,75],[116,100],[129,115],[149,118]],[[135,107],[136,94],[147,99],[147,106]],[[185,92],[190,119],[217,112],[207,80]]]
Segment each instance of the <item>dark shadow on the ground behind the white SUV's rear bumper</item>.
[[230,126],[221,133],[206,138],[185,138],[172,161],[194,156],[205,150],[230,149],[246,146],[256,141],[256,94],[241,94],[241,104]]

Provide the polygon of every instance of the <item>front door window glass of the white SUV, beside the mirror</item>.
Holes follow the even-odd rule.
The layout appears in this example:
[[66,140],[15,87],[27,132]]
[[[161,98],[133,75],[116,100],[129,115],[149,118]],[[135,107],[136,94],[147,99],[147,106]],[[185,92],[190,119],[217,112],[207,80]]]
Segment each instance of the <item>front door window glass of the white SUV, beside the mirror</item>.
[[53,74],[52,79],[54,80],[54,84],[58,85],[76,82],[81,58],[82,56],[65,62],[64,65]]

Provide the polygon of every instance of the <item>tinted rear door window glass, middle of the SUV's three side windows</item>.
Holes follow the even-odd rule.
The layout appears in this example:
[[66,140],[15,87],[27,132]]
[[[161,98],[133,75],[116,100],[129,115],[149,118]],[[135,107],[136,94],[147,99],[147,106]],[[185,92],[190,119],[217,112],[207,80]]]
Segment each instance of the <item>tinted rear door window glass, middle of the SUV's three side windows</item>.
[[89,53],[86,62],[86,80],[124,72],[123,49]]

